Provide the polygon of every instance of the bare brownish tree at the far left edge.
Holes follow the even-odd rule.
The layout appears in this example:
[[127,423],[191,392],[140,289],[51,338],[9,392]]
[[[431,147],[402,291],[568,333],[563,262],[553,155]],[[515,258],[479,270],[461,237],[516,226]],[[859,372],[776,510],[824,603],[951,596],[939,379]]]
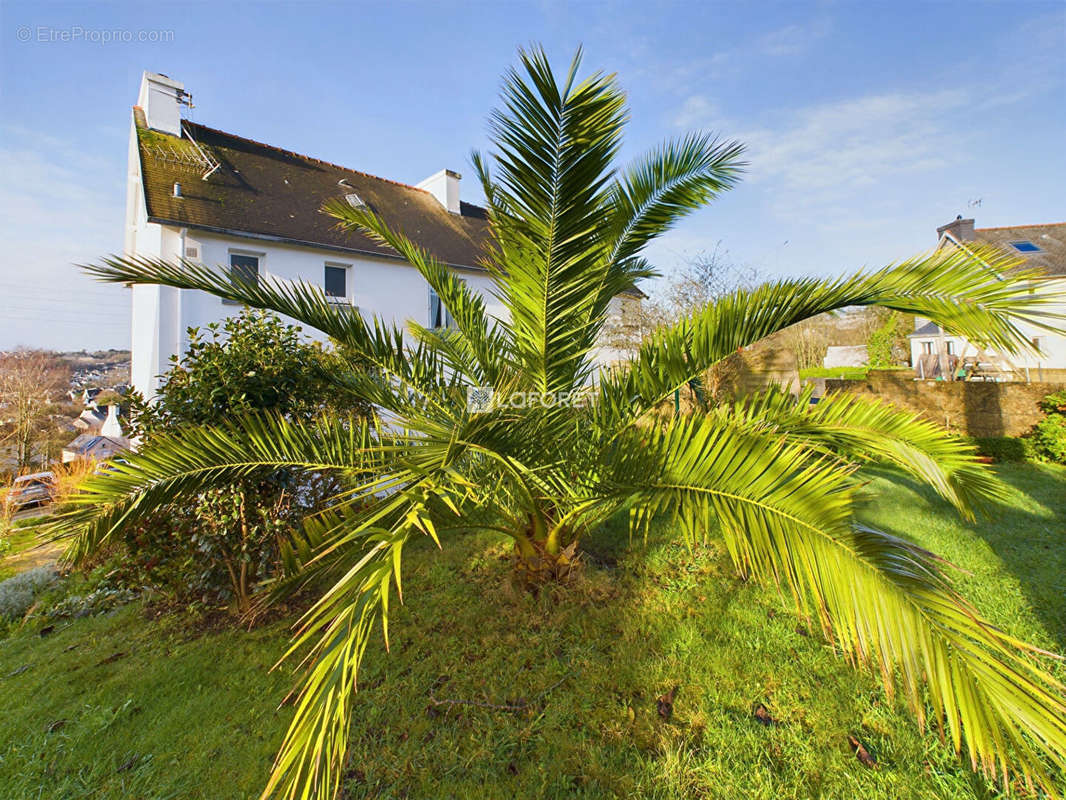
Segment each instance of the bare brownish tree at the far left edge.
[[14,450],[16,470],[34,462],[53,400],[69,378],[63,362],[43,350],[0,354],[0,436]]

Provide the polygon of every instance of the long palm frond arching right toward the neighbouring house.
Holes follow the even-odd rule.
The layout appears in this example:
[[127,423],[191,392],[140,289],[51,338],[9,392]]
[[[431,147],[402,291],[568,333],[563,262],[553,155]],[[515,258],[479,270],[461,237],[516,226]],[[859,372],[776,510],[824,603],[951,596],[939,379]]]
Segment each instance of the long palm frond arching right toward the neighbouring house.
[[777,281],[737,291],[649,337],[601,384],[612,415],[639,416],[739,350],[803,320],[849,306],[928,317],[948,333],[1005,353],[1029,352],[1019,323],[1060,330],[1062,297],[1034,290],[1038,273],[997,249],[935,253],[834,281]]

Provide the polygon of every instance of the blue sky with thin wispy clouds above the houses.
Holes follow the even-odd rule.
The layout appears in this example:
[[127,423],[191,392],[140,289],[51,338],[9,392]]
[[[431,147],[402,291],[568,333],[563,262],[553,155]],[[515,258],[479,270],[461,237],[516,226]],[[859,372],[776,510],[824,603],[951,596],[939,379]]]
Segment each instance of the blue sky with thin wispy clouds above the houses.
[[122,247],[143,69],[183,81],[197,122],[417,182],[470,173],[530,42],[618,74],[627,157],[692,129],[747,143],[741,186],[650,252],[663,271],[721,242],[768,277],[833,275],[927,249],[956,213],[1066,221],[1062,2],[4,0],[0,348],[128,347],[126,292],[71,263]]

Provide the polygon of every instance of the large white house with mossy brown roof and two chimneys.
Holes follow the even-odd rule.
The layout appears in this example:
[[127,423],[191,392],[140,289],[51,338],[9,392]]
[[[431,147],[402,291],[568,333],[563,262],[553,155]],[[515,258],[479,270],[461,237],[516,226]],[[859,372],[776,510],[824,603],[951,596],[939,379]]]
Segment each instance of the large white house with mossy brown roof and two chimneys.
[[[128,255],[304,281],[401,327],[408,320],[451,324],[414,267],[364,236],[337,230],[321,211],[324,202],[343,198],[368,206],[452,268],[483,294],[490,315],[505,314],[479,266],[485,210],[459,198],[457,173],[441,170],[407,186],[188,122],[181,114],[189,105],[180,82],[144,74],[130,130]],[[132,384],[146,398],[156,395],[171,356],[187,349],[187,329],[239,310],[199,291],[134,286],[132,294]],[[615,305],[621,313],[621,298]]]

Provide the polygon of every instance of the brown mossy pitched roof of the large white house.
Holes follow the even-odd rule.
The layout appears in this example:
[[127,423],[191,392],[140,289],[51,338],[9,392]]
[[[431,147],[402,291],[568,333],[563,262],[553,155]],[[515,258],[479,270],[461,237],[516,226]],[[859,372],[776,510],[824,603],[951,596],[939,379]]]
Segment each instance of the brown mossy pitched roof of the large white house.
[[[483,208],[463,203],[461,213],[449,213],[429,192],[394,180],[188,121],[182,126],[192,141],[160,133],[138,107],[133,119],[150,222],[399,258],[361,235],[337,230],[337,221],[320,210],[325,201],[355,192],[445,263],[479,265],[488,237]],[[219,169],[204,180],[212,163]],[[350,188],[338,183],[342,179]],[[175,183],[181,197],[174,196]]]

